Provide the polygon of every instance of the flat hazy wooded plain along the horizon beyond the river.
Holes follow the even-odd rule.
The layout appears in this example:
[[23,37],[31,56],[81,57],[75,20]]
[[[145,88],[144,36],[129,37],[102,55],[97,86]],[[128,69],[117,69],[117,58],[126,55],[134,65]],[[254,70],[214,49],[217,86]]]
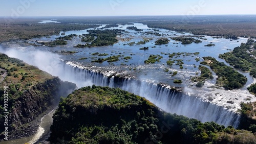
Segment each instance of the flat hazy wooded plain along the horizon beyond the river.
[[[198,35],[256,37],[256,15],[201,16],[115,16],[54,17],[60,23],[38,23],[50,17],[0,17],[0,42],[25,40],[59,34],[60,31],[95,28],[92,24],[127,24],[141,22],[150,28],[162,28]],[[10,20],[11,19],[11,20]],[[90,25],[77,25],[87,23]]]

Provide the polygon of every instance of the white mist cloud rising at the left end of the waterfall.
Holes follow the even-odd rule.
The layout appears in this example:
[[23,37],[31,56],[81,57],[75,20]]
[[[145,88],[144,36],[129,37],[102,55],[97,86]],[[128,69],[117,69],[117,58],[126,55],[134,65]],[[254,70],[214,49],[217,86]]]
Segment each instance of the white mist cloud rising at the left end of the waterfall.
[[75,83],[78,88],[93,85],[90,80],[82,81],[79,77],[74,76],[65,69],[66,63],[61,61],[61,56],[51,52],[39,50],[18,50],[18,49],[3,49],[0,46],[0,52],[12,58],[23,60],[24,62],[37,66],[39,69],[47,73],[59,77],[62,81],[69,81]]

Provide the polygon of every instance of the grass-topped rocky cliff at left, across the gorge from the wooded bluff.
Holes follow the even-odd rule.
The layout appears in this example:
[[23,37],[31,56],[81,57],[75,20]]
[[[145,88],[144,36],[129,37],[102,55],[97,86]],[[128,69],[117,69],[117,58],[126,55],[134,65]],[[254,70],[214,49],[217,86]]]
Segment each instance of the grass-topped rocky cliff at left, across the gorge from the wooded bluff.
[[[8,112],[8,126],[0,122],[0,139],[4,139],[4,130],[8,127],[8,140],[33,135],[38,128],[38,116],[52,110],[59,102],[60,95],[68,95],[76,88],[70,82],[62,82],[59,78],[29,65],[19,59],[10,58],[0,53],[0,118]],[[4,86],[7,86],[6,90]],[[8,106],[4,99],[8,94]],[[6,96],[6,95],[5,95]]]

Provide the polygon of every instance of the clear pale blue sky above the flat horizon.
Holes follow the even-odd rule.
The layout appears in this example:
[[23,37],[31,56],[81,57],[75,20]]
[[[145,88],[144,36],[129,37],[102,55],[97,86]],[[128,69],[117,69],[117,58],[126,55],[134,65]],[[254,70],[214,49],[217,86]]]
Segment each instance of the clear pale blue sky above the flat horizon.
[[0,16],[256,14],[255,0],[1,0]]

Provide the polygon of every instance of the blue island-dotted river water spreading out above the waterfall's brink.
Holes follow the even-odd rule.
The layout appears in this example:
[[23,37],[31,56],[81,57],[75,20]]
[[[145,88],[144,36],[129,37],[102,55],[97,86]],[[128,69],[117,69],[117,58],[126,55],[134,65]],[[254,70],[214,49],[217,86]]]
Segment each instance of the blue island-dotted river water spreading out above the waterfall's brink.
[[[98,28],[102,28],[105,25],[101,25]],[[142,32],[136,32],[133,30],[127,30],[126,28],[129,26],[135,26],[138,29],[143,29]],[[98,29],[97,28],[97,29]],[[95,28],[93,28],[95,29]],[[189,33],[177,33],[175,31],[169,31],[165,29],[151,29],[148,28],[146,25],[143,25],[142,23],[134,23],[134,25],[119,25],[119,27],[116,28],[109,28],[109,29],[123,29],[126,32],[122,35],[118,35],[117,39],[119,39],[119,42],[114,44],[113,46],[99,46],[99,47],[84,47],[84,48],[75,48],[73,46],[77,45],[78,43],[84,44],[86,42],[81,42],[80,37],[74,37],[72,41],[68,40],[68,44],[64,46],[57,46],[57,47],[47,47],[47,46],[28,46],[25,47],[24,51],[31,51],[31,50],[40,50],[40,51],[75,51],[77,53],[72,55],[63,55],[61,56],[61,59],[73,61],[73,62],[79,62],[80,64],[88,67],[96,66],[96,68],[100,68],[101,70],[110,70],[115,67],[115,70],[118,71],[118,73],[126,73],[132,76],[136,76],[139,79],[149,79],[155,82],[162,82],[169,85],[175,85],[175,86],[181,86],[184,87],[187,83],[190,83],[190,77],[196,76],[196,73],[200,73],[200,70],[198,69],[198,66],[200,65],[199,62],[196,62],[196,58],[200,58],[200,61],[202,61],[202,57],[204,56],[211,56],[218,60],[219,54],[223,54],[226,52],[230,52],[234,47],[240,46],[242,42],[246,42],[247,38],[240,38],[238,41],[233,40],[230,41],[229,39],[214,39],[211,36],[205,36],[203,38],[206,38],[207,40],[202,40],[202,43],[191,43],[191,44],[181,44],[181,42],[176,42],[175,40],[170,39],[169,37],[175,37],[175,36],[192,36]],[[88,29],[91,30],[91,29]],[[154,34],[148,34],[148,32],[152,33],[158,33],[160,36],[156,36]],[[60,32],[62,33],[62,32]],[[65,32],[65,35],[69,34],[87,34],[87,30],[81,30],[81,31],[68,31]],[[54,35],[49,37],[42,37],[42,38],[36,38],[29,40],[30,43],[36,43],[35,41],[51,41],[55,40],[55,38],[59,37],[60,35]],[[170,41],[168,44],[162,44],[162,45],[155,45],[155,41],[159,38],[167,37]],[[150,42],[147,42],[146,44],[133,44],[129,45],[130,42],[139,42],[146,39],[152,39]],[[195,39],[199,39],[194,37]],[[204,46],[206,44],[209,44],[210,42],[216,44],[216,46]],[[141,47],[149,47],[149,50],[139,50]],[[13,46],[16,47],[16,46]],[[93,53],[106,53],[109,54],[108,56],[93,56],[91,54]],[[199,55],[194,54],[188,54],[188,53],[195,53],[199,52]],[[162,53],[162,54],[161,54]],[[172,60],[178,60],[182,59],[183,69],[180,69],[179,65],[173,64],[172,67],[168,66],[166,64],[166,61],[169,59],[168,55],[164,54],[172,54],[172,53],[183,53],[182,55],[175,56]],[[144,60],[147,60],[147,58],[150,55],[160,55],[163,56],[163,58],[160,60],[160,62],[156,62],[155,64],[144,64]],[[106,58],[113,55],[122,55],[123,57],[130,56],[132,59],[125,60],[123,57],[120,57],[119,61],[116,62],[102,62],[102,63],[92,63],[92,60],[96,60],[98,58]],[[87,58],[82,59],[80,58]],[[222,60],[223,61],[223,60]],[[175,62],[177,63],[177,62]],[[196,67],[195,67],[196,66]],[[164,69],[167,68],[168,72],[164,72]],[[124,72],[125,71],[125,72]],[[171,77],[171,72],[178,71],[178,75],[175,77]],[[241,71],[241,73],[243,73]],[[248,84],[253,81],[252,77],[250,77],[248,74],[243,73],[248,78]],[[174,84],[174,79],[181,79],[184,83],[183,84]],[[246,84],[246,85],[248,85]]]

